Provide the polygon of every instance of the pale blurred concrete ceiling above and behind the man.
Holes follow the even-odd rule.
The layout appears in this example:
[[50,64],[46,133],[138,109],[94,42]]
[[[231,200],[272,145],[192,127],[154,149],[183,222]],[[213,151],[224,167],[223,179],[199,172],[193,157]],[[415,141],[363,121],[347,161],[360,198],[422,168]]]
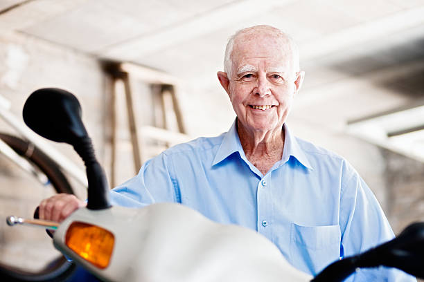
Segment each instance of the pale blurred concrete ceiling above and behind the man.
[[[157,68],[213,93],[228,37],[271,24],[298,42],[306,71],[292,120],[355,133],[349,121],[424,104],[423,15],[424,0],[3,0],[0,32]],[[385,131],[398,130],[391,124]],[[424,160],[387,136],[377,143]]]

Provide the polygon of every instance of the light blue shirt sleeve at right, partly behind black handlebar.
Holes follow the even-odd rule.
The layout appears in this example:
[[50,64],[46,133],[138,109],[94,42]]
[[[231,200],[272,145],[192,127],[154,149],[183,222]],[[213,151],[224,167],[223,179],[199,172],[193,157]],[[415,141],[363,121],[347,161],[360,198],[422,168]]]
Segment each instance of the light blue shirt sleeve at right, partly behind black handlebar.
[[[389,221],[371,189],[349,165],[344,164],[339,225],[342,256],[353,256],[394,238]],[[413,276],[390,267],[358,270],[346,281],[416,281]]]

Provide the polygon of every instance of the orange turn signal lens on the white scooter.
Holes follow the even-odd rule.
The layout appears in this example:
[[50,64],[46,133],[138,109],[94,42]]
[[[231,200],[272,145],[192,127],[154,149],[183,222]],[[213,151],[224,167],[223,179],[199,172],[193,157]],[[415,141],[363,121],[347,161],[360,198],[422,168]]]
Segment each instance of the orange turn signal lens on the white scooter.
[[114,250],[114,234],[87,223],[72,223],[65,237],[65,244],[86,261],[99,268],[109,265]]

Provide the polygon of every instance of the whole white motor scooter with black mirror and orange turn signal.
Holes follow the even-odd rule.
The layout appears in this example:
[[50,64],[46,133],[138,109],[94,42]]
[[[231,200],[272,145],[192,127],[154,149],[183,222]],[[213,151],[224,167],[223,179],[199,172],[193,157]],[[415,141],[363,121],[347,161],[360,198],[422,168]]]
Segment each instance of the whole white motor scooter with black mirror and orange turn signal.
[[9,216],[9,225],[55,230],[53,244],[103,281],[343,281],[358,267],[397,267],[424,278],[424,223],[367,252],[330,264],[317,276],[288,263],[279,249],[253,230],[214,223],[176,203],[141,209],[112,206],[105,173],[94,155],[71,93],[42,88],[24,106],[24,121],[39,135],[71,144],[85,162],[87,207],[62,223]]

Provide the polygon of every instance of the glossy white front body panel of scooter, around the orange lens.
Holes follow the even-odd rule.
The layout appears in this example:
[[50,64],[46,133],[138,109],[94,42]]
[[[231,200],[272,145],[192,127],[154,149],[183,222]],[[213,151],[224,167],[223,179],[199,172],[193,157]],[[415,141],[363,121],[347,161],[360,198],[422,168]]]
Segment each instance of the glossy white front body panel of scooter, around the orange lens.
[[[69,225],[103,227],[115,237],[109,265],[100,269],[65,245]],[[78,209],[54,234],[55,247],[105,281],[292,281],[295,269],[267,238],[237,225],[213,223],[193,209],[158,203],[142,209]]]

